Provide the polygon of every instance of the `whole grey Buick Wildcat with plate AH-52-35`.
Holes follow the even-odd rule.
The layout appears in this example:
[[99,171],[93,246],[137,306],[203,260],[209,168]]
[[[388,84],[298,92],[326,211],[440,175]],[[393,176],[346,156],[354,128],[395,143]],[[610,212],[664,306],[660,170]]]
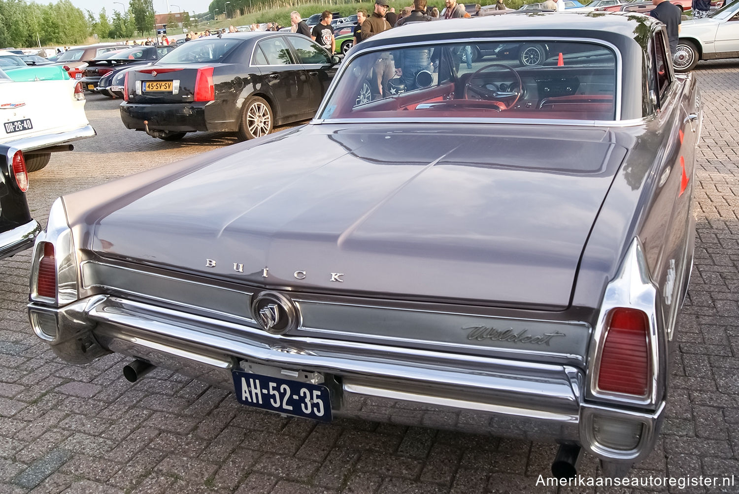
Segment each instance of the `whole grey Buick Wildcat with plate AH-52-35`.
[[668,55],[638,14],[369,38],[310,124],[57,199],[33,331],[132,381],[544,439],[556,476],[582,450],[621,475],[660,430],[692,267],[701,97]]

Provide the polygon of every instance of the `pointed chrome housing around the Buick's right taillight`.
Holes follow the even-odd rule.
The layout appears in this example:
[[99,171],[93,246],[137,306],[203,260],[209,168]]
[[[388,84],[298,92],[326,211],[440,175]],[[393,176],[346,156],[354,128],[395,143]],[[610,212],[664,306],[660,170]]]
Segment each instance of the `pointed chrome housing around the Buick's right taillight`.
[[[588,355],[590,366],[588,366],[587,398],[603,399],[608,402],[618,402],[641,408],[653,408],[657,405],[657,397],[664,392],[664,386],[658,380],[659,369],[663,363],[659,357],[657,301],[657,289],[649,275],[644,247],[641,246],[641,241],[635,237],[621,263],[619,274],[616,275],[616,278],[613,278],[613,281],[610,281],[603,295],[598,323],[596,323],[596,329],[593,333],[593,344],[590,346]],[[651,376],[647,382],[647,392],[641,396],[604,391],[598,387],[599,368],[605,337],[607,336],[605,325],[612,309],[618,307],[641,310],[647,315],[649,321],[649,338],[647,340],[649,362],[647,366],[650,368]]]

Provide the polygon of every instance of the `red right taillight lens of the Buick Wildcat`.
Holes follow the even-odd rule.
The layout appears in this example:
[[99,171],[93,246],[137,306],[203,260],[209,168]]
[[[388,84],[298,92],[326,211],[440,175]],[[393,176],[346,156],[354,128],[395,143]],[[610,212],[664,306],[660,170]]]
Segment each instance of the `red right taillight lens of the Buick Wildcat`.
[[649,320],[641,310],[613,309],[598,372],[602,391],[647,394],[650,380]]

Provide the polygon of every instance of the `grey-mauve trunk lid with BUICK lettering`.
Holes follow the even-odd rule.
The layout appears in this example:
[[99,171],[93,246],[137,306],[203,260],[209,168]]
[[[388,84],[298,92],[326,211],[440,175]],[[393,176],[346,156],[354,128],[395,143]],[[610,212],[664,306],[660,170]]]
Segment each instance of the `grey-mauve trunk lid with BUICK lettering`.
[[596,128],[401,127],[234,148],[123,197],[92,247],[262,286],[568,306],[625,148]]

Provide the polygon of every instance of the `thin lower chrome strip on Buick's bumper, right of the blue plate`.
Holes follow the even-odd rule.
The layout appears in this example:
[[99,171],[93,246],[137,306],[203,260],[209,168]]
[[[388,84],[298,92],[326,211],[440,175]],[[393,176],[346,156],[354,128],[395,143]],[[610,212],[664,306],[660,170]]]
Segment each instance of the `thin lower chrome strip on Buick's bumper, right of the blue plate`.
[[425,403],[432,406],[460,408],[463,410],[486,411],[494,414],[512,415],[519,417],[524,416],[531,419],[552,420],[556,422],[579,422],[578,414],[558,414],[556,412],[536,410],[534,408],[512,407],[506,405],[498,405],[495,403],[473,402],[464,399],[406,393],[405,391],[393,391],[391,389],[375,388],[374,386],[351,384],[350,382],[344,382],[344,391],[348,393],[363,394],[369,397],[380,397],[397,399],[406,402]]

